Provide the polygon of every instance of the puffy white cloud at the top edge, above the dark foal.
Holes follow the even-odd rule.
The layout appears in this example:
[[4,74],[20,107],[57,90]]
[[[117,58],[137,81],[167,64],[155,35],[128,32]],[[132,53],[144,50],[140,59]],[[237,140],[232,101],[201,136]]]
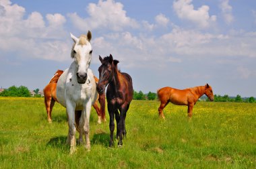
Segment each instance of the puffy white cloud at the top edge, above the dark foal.
[[107,28],[113,31],[122,31],[125,27],[135,28],[138,23],[127,17],[122,3],[113,0],[90,3],[87,7],[90,17],[82,18],[77,13],[69,13],[69,18],[79,30],[96,30]]

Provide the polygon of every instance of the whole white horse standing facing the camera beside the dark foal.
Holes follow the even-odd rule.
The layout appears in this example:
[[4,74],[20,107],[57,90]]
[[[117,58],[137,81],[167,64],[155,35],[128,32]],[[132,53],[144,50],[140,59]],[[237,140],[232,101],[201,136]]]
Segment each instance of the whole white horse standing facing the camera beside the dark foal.
[[[74,59],[67,70],[61,74],[57,82],[57,100],[66,107],[69,131],[67,144],[70,145],[70,154],[75,152],[75,128],[79,131],[79,142],[83,143],[83,134],[86,137],[85,148],[90,151],[89,119],[91,107],[97,99],[94,74],[90,70],[92,59],[92,34],[76,38],[71,34],[73,47],[71,58]],[[79,117],[81,115],[81,117]],[[77,121],[77,117],[79,121]]]

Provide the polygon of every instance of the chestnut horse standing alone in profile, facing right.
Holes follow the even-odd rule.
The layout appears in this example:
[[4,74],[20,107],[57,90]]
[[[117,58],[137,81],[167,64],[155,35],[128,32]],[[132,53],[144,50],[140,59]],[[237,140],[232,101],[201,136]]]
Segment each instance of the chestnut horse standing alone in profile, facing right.
[[164,87],[159,89],[157,93],[158,99],[161,102],[160,107],[158,108],[159,117],[162,118],[164,118],[164,113],[162,113],[162,111],[169,102],[173,103],[174,105],[187,105],[188,117],[192,117],[193,107],[202,95],[206,95],[210,101],[214,101],[214,93],[212,92],[212,87],[209,84],[183,90]]

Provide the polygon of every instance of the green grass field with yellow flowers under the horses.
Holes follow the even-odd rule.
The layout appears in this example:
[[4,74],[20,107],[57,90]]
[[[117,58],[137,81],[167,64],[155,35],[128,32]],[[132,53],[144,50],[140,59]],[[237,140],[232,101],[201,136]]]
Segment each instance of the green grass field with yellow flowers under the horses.
[[190,121],[175,105],[160,120],[158,105],[131,102],[123,148],[108,148],[108,115],[98,125],[92,109],[91,151],[71,156],[61,105],[48,123],[43,99],[0,97],[0,168],[256,168],[256,104],[198,102]]

